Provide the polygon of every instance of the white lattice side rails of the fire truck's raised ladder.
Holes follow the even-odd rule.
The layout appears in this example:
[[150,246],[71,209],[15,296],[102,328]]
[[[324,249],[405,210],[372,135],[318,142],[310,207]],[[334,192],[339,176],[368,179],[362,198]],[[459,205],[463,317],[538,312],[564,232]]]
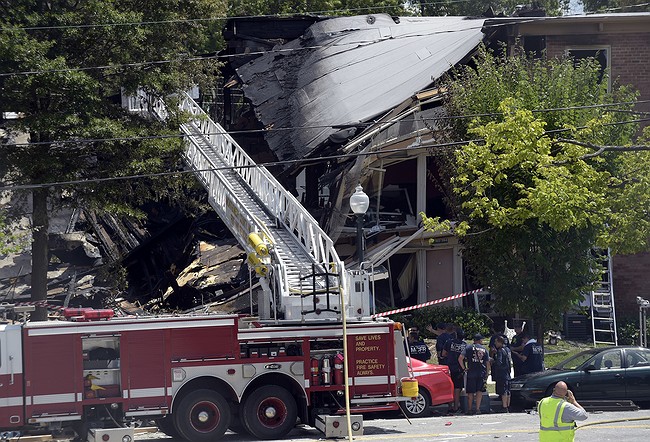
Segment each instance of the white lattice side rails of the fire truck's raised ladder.
[[[168,116],[168,110],[163,100],[150,100],[142,91],[138,91],[135,96],[128,97],[124,106],[134,112],[153,113],[161,120]],[[257,165],[225,129],[210,119],[187,93],[179,96],[179,109],[194,117],[191,124],[198,128],[202,137],[216,151],[220,160],[241,177],[245,185],[262,203],[267,213],[291,233],[306,254],[311,257],[312,262],[322,266],[324,270],[336,269],[341,290],[347,293],[344,263],[334,248],[334,242],[321,229],[311,214],[282,187],[265,167]],[[195,136],[189,123],[183,124],[181,130],[190,140]],[[252,251],[247,241],[248,234],[251,232],[264,232],[265,236],[275,243],[267,226],[239,201],[229,180],[219,170],[219,166],[210,160],[209,155],[203,151],[199,143],[188,143],[185,157],[188,164],[195,170],[196,176],[208,189],[210,204],[229,225],[245,250]],[[271,252],[278,264],[276,270],[280,274],[276,276],[279,277],[278,282],[282,287],[282,294],[288,296],[292,287],[287,274],[287,264],[277,253],[274,253],[273,248]]]

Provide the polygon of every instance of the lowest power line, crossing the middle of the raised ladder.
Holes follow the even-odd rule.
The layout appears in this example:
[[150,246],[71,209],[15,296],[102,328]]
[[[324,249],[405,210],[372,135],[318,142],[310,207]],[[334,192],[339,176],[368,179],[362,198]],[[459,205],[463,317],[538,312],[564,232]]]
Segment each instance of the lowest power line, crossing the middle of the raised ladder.
[[[631,120],[631,121],[615,121],[611,123],[605,123],[604,126],[618,126],[618,125],[623,125],[623,124],[630,124],[630,123],[639,123],[643,121],[650,121],[650,118],[642,118],[642,119],[637,119],[637,120]],[[561,133],[561,132],[567,132],[570,130],[574,129],[586,129],[587,126],[581,126],[577,128],[565,128],[565,129],[555,129],[555,130],[549,130],[545,131],[544,134],[551,134],[551,133]],[[147,173],[147,174],[140,174],[140,175],[125,175],[125,176],[120,176],[120,177],[107,177],[107,178],[93,178],[93,179],[87,179],[87,180],[71,180],[71,181],[58,181],[58,182],[51,182],[51,183],[39,183],[39,184],[18,184],[18,185],[10,185],[10,186],[0,186],[0,191],[5,191],[5,190],[33,190],[33,189],[42,189],[42,188],[47,188],[47,187],[62,187],[62,186],[72,186],[72,185],[83,185],[83,184],[97,184],[97,183],[104,183],[104,182],[111,182],[111,181],[123,181],[123,180],[134,180],[134,179],[142,179],[142,178],[156,178],[156,177],[164,177],[164,176],[176,176],[176,175],[185,175],[188,173],[197,173],[197,172],[211,172],[211,171],[219,171],[219,170],[232,170],[232,169],[248,169],[248,168],[256,168],[256,167],[273,167],[273,166],[281,166],[281,165],[286,165],[286,164],[302,164],[304,166],[309,166],[309,165],[314,165],[314,164],[319,164],[323,163],[326,161],[330,160],[339,160],[341,158],[358,158],[358,157],[363,157],[363,156],[370,156],[370,155],[377,155],[377,154],[390,154],[390,153],[402,153],[406,151],[414,151],[414,150],[420,150],[420,149],[435,149],[435,148],[445,148],[445,147],[455,147],[455,146],[462,146],[466,145],[469,143],[482,143],[484,142],[484,139],[474,139],[474,140],[463,140],[463,141],[450,141],[447,143],[429,143],[428,141],[421,142],[420,145],[418,146],[410,146],[410,147],[401,147],[401,148],[396,148],[396,149],[382,149],[380,151],[369,151],[369,152],[356,152],[356,153],[349,153],[349,154],[337,154],[337,155],[328,155],[328,156],[323,156],[323,157],[318,157],[318,158],[300,158],[296,160],[282,160],[282,161],[270,161],[270,162],[265,162],[265,163],[260,163],[260,164],[252,164],[250,166],[224,166],[224,167],[212,167],[208,169],[198,169],[198,170],[179,170],[179,171],[174,171],[174,172],[159,172],[159,173]],[[648,146],[650,149],[650,146]]]

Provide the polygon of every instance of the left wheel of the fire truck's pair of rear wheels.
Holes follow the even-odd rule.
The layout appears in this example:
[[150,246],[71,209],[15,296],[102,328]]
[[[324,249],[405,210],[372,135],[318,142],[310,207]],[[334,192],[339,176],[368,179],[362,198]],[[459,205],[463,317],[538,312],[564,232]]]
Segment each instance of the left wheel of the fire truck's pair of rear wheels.
[[183,439],[211,442],[226,432],[231,414],[228,402],[219,393],[196,390],[183,398],[174,416]]

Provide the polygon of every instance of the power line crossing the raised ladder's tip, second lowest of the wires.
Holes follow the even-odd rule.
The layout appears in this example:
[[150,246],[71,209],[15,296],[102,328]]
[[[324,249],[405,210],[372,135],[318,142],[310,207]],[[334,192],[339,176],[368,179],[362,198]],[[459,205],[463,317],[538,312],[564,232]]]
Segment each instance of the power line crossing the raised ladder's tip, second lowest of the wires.
[[[615,103],[601,103],[601,104],[591,104],[583,106],[566,106],[566,107],[556,107],[556,108],[545,108],[545,109],[530,109],[533,113],[542,113],[542,112],[556,112],[556,111],[569,111],[569,110],[581,110],[581,109],[597,109],[597,108],[608,108],[611,106],[622,106],[622,105],[632,105],[632,104],[645,104],[650,103],[650,100],[639,100],[639,101],[618,101]],[[608,112],[624,112],[632,113],[636,115],[648,115],[650,112],[643,111],[628,111],[627,109],[606,109]],[[502,112],[490,112],[482,114],[466,114],[466,115],[441,115],[437,117],[429,118],[403,118],[403,119],[390,119],[386,121],[381,121],[383,124],[387,123],[400,123],[400,122],[418,122],[418,121],[438,121],[438,120],[451,120],[451,119],[464,119],[464,118],[476,118],[476,117],[494,117],[498,115],[503,115]],[[379,122],[368,122],[360,123],[355,126],[371,126]],[[277,127],[271,129],[247,129],[247,130],[233,130],[223,132],[209,132],[205,135],[248,135],[256,133],[270,133],[270,132],[282,132],[282,131],[291,131],[291,130],[305,130],[305,129],[327,129],[332,128],[331,124],[313,124],[307,126],[297,126],[297,127]],[[28,147],[28,146],[43,146],[43,145],[65,145],[65,144],[81,144],[81,143],[100,143],[100,142],[112,142],[112,141],[148,141],[148,140],[164,140],[164,139],[175,139],[175,138],[184,138],[183,134],[173,134],[173,135],[148,135],[148,136],[135,136],[135,137],[112,137],[112,138],[78,138],[74,140],[59,140],[59,141],[34,141],[34,142],[25,142],[25,143],[2,143],[0,146],[10,146],[10,147]]]

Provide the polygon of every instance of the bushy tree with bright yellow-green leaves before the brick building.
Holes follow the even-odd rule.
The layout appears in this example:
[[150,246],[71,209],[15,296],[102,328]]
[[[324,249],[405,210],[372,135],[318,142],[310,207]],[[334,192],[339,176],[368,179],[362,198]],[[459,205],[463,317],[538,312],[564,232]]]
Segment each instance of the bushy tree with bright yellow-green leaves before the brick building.
[[456,230],[498,308],[539,334],[598,277],[591,247],[647,248],[650,153],[630,144],[636,94],[608,91],[595,62],[485,50],[475,62],[449,84],[450,113],[477,115],[453,120],[451,136],[475,141],[441,162]]

